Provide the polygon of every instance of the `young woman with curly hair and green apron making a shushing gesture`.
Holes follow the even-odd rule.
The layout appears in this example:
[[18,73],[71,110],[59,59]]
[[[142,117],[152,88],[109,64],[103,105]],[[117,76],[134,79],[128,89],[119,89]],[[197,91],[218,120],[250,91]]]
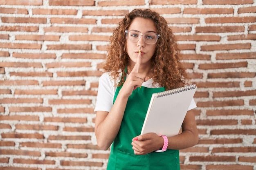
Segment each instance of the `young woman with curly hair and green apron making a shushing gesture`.
[[[140,135],[151,95],[188,82],[166,20],[149,9],[128,13],[113,31],[104,70],[95,135],[101,149],[112,144],[107,170],[179,170],[179,150],[198,142],[193,113],[186,114],[179,135]],[[164,152],[154,152],[159,149]]]

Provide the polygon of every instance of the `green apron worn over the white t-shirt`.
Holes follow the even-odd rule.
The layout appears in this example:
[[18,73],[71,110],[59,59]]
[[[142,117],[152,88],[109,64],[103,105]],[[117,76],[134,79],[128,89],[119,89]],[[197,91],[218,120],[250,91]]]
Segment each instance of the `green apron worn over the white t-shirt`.
[[[121,87],[117,87],[114,101]],[[153,93],[164,91],[161,88],[136,88],[128,98],[120,130],[112,146],[107,170],[180,170],[179,150],[151,152],[135,155],[132,138],[140,135],[148,105]]]

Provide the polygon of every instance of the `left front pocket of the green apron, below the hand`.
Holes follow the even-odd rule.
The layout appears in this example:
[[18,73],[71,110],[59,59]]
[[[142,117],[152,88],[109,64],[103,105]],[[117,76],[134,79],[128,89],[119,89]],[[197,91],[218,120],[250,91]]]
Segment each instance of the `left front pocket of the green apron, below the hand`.
[[149,170],[149,155],[135,155],[117,151],[116,170]]

